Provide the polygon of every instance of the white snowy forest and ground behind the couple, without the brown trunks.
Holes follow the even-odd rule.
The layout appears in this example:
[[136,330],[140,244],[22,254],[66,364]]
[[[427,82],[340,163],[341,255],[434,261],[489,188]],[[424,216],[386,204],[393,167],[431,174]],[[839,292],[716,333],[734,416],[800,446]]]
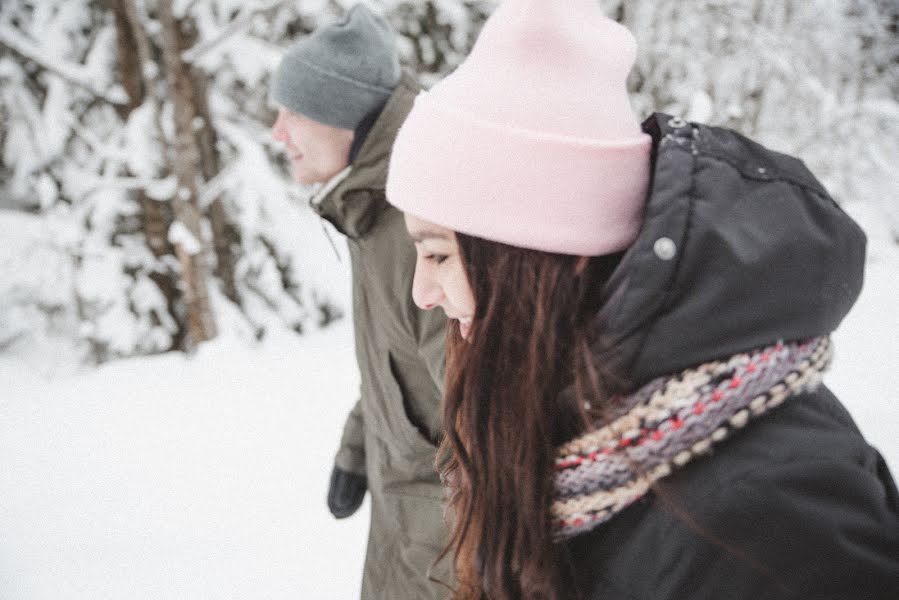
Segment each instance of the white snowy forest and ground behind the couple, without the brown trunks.
[[[367,504],[338,522],[324,501],[358,390],[348,259],[277,164],[264,92],[295,24],[352,3],[175,2],[193,11],[200,45],[218,40],[197,61],[228,150],[206,194],[225,194],[242,235],[242,302],[213,281],[219,335],[189,354],[159,353],[175,317],[147,276],[158,265],[123,229],[134,189],[165,196],[171,183],[135,176],[155,168],[150,115],[121,121],[89,99],[123,94],[103,4],[0,5],[0,600],[358,596]],[[433,82],[495,3],[370,4]],[[641,113],[736,127],[800,155],[868,233],[865,286],[825,382],[899,469],[899,10],[602,4],[640,44]],[[175,222],[168,235],[184,231]],[[318,325],[322,303],[344,317]]]

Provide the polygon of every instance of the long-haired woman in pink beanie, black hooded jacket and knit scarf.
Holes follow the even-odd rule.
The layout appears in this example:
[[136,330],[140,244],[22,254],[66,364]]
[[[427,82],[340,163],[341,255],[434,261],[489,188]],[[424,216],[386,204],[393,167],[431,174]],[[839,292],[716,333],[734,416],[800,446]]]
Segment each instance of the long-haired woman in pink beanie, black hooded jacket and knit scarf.
[[865,237],[801,161],[655,114],[592,0],[507,0],[388,200],[450,320],[461,599],[895,598],[899,493],[821,384]]

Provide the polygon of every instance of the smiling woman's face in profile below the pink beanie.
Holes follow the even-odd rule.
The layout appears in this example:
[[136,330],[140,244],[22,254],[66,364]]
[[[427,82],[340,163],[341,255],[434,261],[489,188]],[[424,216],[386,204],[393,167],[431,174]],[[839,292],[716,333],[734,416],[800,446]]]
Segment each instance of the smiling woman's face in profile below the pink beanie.
[[406,229],[415,243],[415,278],[412,299],[419,308],[443,309],[447,318],[458,321],[459,333],[468,339],[474,317],[474,294],[465,274],[456,234],[406,214]]

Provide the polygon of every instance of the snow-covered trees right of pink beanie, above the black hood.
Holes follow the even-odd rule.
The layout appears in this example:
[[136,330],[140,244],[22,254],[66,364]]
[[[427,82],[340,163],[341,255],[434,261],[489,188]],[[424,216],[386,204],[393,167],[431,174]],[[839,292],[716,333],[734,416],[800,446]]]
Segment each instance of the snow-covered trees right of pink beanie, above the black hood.
[[801,157],[899,242],[899,5],[882,0],[604,2],[634,32],[635,108],[742,131]]

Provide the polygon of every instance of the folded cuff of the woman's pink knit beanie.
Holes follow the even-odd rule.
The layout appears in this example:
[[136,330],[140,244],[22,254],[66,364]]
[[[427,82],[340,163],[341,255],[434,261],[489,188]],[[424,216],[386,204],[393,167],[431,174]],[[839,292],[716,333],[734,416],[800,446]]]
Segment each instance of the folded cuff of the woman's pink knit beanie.
[[477,119],[422,93],[393,146],[387,199],[404,212],[513,246],[596,256],[636,238],[648,135],[605,141]]

